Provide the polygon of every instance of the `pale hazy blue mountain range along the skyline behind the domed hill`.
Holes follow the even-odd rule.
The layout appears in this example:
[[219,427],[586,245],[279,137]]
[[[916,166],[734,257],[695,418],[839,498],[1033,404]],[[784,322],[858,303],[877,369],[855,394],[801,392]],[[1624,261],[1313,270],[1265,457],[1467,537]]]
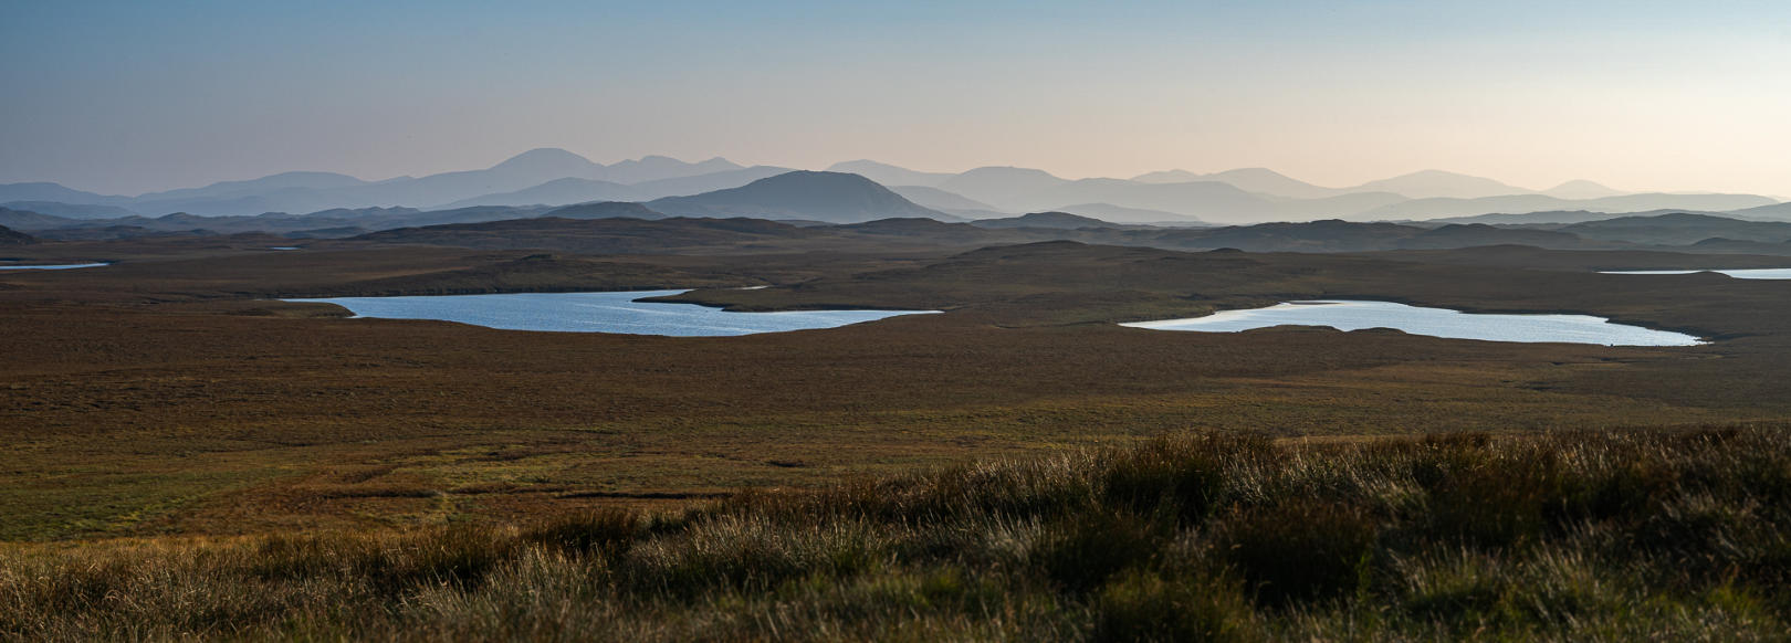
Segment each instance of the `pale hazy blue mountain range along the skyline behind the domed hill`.
[[[659,202],[672,210],[711,215],[826,215],[815,220],[860,220],[885,206],[818,213],[810,204],[770,201],[722,202],[698,195],[743,188],[793,172],[783,167],[743,167],[722,158],[688,163],[647,156],[602,165],[561,149],[536,149],[484,170],[424,177],[364,181],[331,172],[285,172],[249,181],[226,181],[136,197],[100,195],[54,183],[0,184],[0,206],[64,219],[127,219],[188,213],[199,217],[258,217],[263,213],[317,213],[328,210],[416,208],[423,211],[480,206],[568,206],[578,202]],[[1734,193],[1624,193],[1590,181],[1569,181],[1549,190],[1526,190],[1501,181],[1454,172],[1424,170],[1358,186],[1331,188],[1268,168],[1214,174],[1164,170],[1132,179],[1064,179],[1037,168],[981,167],[967,172],[919,172],[860,159],[835,163],[827,172],[869,179],[915,213],[942,220],[1005,219],[1030,211],[1066,211],[1125,224],[1297,222],[1297,220],[1438,220],[1542,211],[1639,213],[1657,210],[1734,213],[1743,219],[1791,220],[1791,204]],[[790,206],[790,208],[786,208]],[[725,211],[736,208],[738,211]],[[792,210],[793,208],[793,210]],[[899,208],[897,208],[899,210]],[[894,210],[892,210],[894,211]],[[1490,220],[1488,220],[1490,222]]]

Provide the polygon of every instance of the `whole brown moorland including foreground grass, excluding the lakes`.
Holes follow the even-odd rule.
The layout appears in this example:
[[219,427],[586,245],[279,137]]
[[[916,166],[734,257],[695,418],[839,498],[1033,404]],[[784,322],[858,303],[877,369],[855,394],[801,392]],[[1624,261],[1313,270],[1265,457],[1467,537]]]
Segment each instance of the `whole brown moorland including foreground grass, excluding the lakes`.
[[[0,272],[0,638],[1775,638],[1791,614],[1791,283],[1596,274],[1766,258],[267,245],[5,251],[118,263]],[[679,287],[946,313],[666,339],[272,301]],[[1712,342],[1114,326],[1325,297]]]

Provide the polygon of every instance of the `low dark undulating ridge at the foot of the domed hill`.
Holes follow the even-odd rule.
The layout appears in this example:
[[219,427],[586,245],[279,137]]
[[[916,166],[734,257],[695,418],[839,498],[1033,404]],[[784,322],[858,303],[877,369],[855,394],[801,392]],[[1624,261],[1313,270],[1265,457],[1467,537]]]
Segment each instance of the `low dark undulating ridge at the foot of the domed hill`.
[[[853,244],[917,244],[926,247],[981,247],[1030,242],[1082,242],[1139,245],[1180,251],[1243,249],[1252,253],[1368,253],[1429,251],[1463,247],[1542,247],[1608,251],[1746,253],[1791,256],[1791,224],[1737,222],[1710,217],[1614,219],[1603,226],[1578,224],[1562,229],[1447,224],[1436,227],[1392,222],[1315,220],[1227,227],[1118,226],[1067,213],[1030,213],[967,224],[933,219],[879,219],[856,224],[793,224],[763,219],[568,219],[550,213],[537,219],[401,227],[355,240],[381,244],[430,244],[475,249],[557,249],[573,253],[799,253],[840,251]],[[1755,240],[1705,238],[1696,244],[1641,244],[1624,238],[1660,238],[1678,231],[1685,240],[1712,231],[1739,231],[1735,224],[1764,226],[1744,233]],[[1773,260],[1752,260],[1775,265]]]

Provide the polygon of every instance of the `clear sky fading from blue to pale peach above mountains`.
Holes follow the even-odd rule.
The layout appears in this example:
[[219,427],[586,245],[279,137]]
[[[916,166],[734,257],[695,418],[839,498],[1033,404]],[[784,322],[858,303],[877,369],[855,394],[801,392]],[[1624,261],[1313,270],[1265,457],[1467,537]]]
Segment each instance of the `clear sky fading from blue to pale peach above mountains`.
[[0,0],[0,183],[534,147],[1791,197],[1786,2]]

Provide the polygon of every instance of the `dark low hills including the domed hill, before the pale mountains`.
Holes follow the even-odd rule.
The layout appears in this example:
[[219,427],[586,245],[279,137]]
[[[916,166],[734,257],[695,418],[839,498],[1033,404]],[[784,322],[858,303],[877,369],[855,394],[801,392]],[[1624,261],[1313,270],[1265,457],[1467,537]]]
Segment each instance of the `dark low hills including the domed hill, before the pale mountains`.
[[[82,220],[0,208],[7,242],[115,240],[168,235],[285,235],[482,249],[587,253],[840,251],[851,244],[1001,245],[1041,240],[1166,249],[1286,253],[1426,251],[1485,245],[1655,249],[1791,256],[1791,222],[1662,211],[1587,211],[1465,222],[1264,222],[1250,226],[1128,226],[1067,211],[951,222],[856,174],[786,172],[740,188],[648,202],[571,206],[358,208],[310,215],[118,217]],[[18,236],[29,235],[29,236]],[[562,236],[561,236],[562,235]],[[847,244],[847,245],[838,245]]]

